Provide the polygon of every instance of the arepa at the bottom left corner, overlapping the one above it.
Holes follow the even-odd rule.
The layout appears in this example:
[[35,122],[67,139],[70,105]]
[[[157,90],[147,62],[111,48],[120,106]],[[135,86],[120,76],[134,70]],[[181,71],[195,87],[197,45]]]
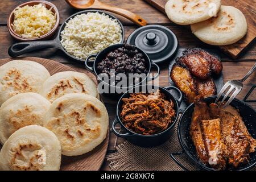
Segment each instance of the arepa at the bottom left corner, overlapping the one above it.
[[5,171],[56,171],[60,169],[60,142],[48,129],[30,125],[13,133],[0,152]]

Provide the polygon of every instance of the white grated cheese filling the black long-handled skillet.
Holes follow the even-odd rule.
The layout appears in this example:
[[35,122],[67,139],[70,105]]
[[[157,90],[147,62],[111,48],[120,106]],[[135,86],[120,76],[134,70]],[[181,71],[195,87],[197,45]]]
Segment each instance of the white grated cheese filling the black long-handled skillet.
[[61,32],[61,44],[71,55],[86,59],[122,39],[122,28],[106,14],[87,13],[76,15],[66,23]]

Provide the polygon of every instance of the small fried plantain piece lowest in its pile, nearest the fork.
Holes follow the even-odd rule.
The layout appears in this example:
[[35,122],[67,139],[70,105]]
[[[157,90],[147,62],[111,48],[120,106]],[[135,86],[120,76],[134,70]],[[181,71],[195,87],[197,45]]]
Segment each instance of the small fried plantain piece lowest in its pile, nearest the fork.
[[196,88],[199,95],[205,97],[215,96],[217,94],[216,85],[213,78],[207,80],[200,80],[196,78]]

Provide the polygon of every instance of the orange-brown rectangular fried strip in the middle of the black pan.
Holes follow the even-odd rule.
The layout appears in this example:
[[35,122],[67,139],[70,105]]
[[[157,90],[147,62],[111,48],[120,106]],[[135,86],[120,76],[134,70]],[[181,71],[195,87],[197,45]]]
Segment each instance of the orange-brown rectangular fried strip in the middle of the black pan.
[[226,146],[221,137],[220,119],[201,120],[205,148],[208,153],[208,163],[215,169],[226,168]]

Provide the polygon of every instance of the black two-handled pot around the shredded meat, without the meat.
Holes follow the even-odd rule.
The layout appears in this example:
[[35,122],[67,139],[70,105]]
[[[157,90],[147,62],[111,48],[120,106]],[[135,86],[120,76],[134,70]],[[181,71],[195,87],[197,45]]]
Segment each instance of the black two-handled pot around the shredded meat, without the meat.
[[[146,86],[146,87],[145,87]],[[148,86],[148,87],[147,87]],[[164,93],[166,98],[168,100],[171,100],[172,102],[174,102],[174,109],[175,109],[175,118],[173,119],[173,122],[171,123],[171,125],[164,131],[162,131],[161,133],[158,134],[154,134],[154,135],[142,135],[142,134],[138,134],[135,133],[134,131],[131,131],[129,129],[127,129],[125,127],[125,125],[123,125],[122,123],[122,119],[120,116],[121,110],[122,110],[122,98],[129,98],[130,97],[130,93],[134,93],[134,90],[139,88],[139,92],[141,92],[142,88],[146,88],[146,92],[151,92],[152,90],[157,90],[159,89],[160,92]],[[142,86],[137,86],[134,87],[132,89],[133,91],[131,92],[131,90],[129,90],[128,92],[126,92],[125,94],[123,94],[123,96],[120,98],[118,104],[117,104],[117,115],[115,120],[113,121],[112,124],[112,131],[114,132],[115,135],[117,135],[118,137],[123,137],[127,140],[129,140],[131,143],[134,143],[138,146],[142,146],[142,147],[154,147],[154,146],[158,146],[164,142],[166,142],[174,133],[174,126],[175,123],[177,122],[177,118],[179,115],[179,105],[180,102],[183,98],[182,93],[180,92],[179,89],[177,89],[174,86],[167,86],[165,88],[161,87],[161,86],[153,86],[153,85],[142,85]],[[176,99],[174,96],[172,96],[172,94],[170,92],[168,92],[168,90],[176,90],[176,92],[179,94],[179,98]],[[125,134],[121,134],[119,133],[116,129],[115,129],[115,125],[117,125],[117,123],[119,123],[119,125],[121,125],[121,128],[123,130],[125,130]]]

